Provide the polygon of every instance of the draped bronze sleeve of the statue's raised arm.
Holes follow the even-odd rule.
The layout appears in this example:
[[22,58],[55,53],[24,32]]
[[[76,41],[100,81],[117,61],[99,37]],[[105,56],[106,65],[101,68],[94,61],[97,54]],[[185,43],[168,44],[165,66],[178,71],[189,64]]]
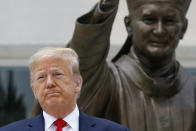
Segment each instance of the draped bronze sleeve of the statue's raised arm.
[[[116,111],[119,110],[114,108],[119,102],[119,86],[114,72],[111,71],[111,63],[106,62],[116,12],[117,7],[110,12],[101,12],[97,4],[89,13],[78,18],[69,47],[79,55],[83,78],[79,107],[90,115],[118,121],[119,113]],[[93,16],[98,16],[101,21],[90,23]]]

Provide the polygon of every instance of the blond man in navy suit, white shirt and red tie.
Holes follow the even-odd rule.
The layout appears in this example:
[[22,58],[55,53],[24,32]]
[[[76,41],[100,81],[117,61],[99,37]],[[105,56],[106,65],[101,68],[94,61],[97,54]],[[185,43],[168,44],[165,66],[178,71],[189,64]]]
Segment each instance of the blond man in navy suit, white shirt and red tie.
[[0,131],[128,131],[114,122],[87,116],[76,105],[82,77],[69,48],[44,48],[30,59],[31,88],[43,112]]

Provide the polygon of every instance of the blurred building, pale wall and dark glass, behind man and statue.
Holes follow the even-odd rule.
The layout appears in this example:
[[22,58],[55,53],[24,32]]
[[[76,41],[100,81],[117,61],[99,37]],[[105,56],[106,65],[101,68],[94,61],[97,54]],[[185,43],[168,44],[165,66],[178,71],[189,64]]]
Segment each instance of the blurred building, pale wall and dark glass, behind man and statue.
[[[97,1],[0,0],[0,118],[4,117],[3,113],[11,114],[15,111],[18,114],[17,109],[13,109],[15,104],[21,106],[18,111],[25,114],[16,118],[28,116],[33,104],[28,58],[41,47],[64,47],[72,37],[76,18],[88,12]],[[196,1],[192,0],[187,14],[189,27],[177,49],[177,59],[192,73],[196,72],[194,7]],[[125,15],[126,0],[120,0],[111,36],[109,59],[116,54],[126,39],[127,33],[123,23]],[[10,106],[7,99],[15,103],[11,103]],[[0,121],[1,125],[3,123]]]

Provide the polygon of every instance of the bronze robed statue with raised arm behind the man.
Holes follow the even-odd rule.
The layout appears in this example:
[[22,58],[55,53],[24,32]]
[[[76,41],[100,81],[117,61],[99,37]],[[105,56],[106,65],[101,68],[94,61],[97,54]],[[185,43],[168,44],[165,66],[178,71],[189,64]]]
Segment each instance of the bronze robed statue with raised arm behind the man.
[[175,58],[190,2],[127,0],[128,38],[112,62],[106,57],[118,0],[101,0],[80,17],[69,43],[84,81],[79,107],[133,131],[195,131],[196,78]]

